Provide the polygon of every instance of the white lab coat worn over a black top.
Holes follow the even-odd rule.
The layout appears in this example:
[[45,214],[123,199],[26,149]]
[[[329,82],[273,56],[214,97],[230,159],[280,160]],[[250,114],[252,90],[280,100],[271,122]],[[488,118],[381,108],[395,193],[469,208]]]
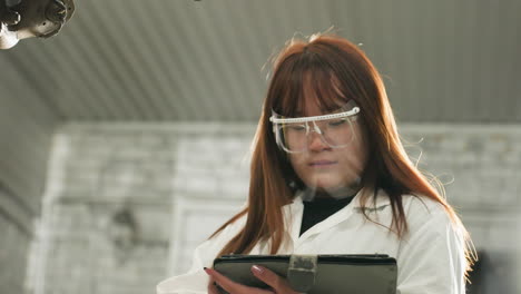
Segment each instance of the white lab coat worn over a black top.
[[[399,294],[463,294],[464,238],[454,227],[442,205],[426,197],[403,196],[410,233],[399,239],[394,233],[365,219],[360,210],[358,193],[341,210],[298,236],[303,216],[302,197],[283,207],[286,237],[277,254],[387,254],[396,258]],[[391,225],[390,199],[379,192],[368,215]],[[157,285],[158,294],[207,293],[208,276],[203,267],[212,267],[224,245],[244,226],[242,217],[218,235],[200,244],[194,254],[191,270]],[[266,243],[257,244],[250,254],[269,254]]]

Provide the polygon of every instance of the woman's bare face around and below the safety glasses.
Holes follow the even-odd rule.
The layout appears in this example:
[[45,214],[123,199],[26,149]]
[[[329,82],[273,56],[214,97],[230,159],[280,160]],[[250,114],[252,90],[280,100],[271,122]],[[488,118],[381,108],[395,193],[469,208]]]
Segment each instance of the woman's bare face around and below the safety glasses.
[[[306,104],[305,116],[321,116],[324,112],[316,104]],[[334,192],[356,185],[364,170],[367,148],[365,134],[358,122],[353,124],[355,138],[346,147],[332,148],[316,133],[311,133],[307,150],[288,154],[297,176],[309,188]]]

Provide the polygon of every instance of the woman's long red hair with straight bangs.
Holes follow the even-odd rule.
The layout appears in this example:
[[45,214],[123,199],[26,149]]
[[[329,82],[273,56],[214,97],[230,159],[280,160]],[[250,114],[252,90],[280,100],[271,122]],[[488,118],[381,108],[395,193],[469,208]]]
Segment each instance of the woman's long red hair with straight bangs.
[[[283,242],[284,218],[281,207],[291,203],[295,189],[303,183],[293,170],[284,151],[279,150],[269,122],[272,110],[294,116],[303,97],[314,91],[322,109],[338,107],[338,97],[353,99],[361,108],[361,126],[368,150],[361,180],[374,194],[362,197],[365,204],[383,189],[390,197],[393,222],[390,227],[399,237],[407,233],[402,195],[423,195],[443,205],[456,229],[468,241],[468,268],[472,264],[469,234],[460,218],[427,179],[409,159],[400,140],[384,84],[376,68],[355,45],[334,35],[315,35],[309,40],[292,39],[273,59],[263,112],[254,139],[247,207],[226,222],[246,215],[246,225],[220,251],[223,254],[247,254],[262,241],[271,239],[271,253],[276,254]],[[307,97],[307,96],[306,96]],[[296,183],[296,185],[295,185]],[[443,189],[442,189],[443,192]],[[364,212],[364,209],[363,209]],[[367,217],[367,215],[365,215]],[[368,218],[368,217],[367,217]]]

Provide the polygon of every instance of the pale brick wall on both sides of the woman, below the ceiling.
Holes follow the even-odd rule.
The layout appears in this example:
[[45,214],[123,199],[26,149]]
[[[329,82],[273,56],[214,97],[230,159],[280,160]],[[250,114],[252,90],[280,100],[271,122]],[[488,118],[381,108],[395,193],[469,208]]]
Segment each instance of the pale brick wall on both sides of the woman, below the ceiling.
[[[402,126],[423,141],[420,168],[439,176],[479,248],[515,247],[520,126]],[[244,204],[254,126],[69,125],[55,146],[36,293],[153,293],[189,266],[194,246]],[[409,146],[412,157],[419,147]],[[204,205],[201,204],[204,203]],[[110,218],[137,222],[130,253],[115,252]],[[45,232],[43,234],[41,232]]]

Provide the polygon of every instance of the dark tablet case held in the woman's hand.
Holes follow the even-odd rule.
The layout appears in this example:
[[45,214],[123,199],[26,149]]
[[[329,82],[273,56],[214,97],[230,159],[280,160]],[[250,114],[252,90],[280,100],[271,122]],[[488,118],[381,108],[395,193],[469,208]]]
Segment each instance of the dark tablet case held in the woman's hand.
[[260,265],[286,277],[297,292],[396,293],[396,259],[373,255],[224,255],[214,261],[214,268],[244,285],[267,288],[252,274]]

